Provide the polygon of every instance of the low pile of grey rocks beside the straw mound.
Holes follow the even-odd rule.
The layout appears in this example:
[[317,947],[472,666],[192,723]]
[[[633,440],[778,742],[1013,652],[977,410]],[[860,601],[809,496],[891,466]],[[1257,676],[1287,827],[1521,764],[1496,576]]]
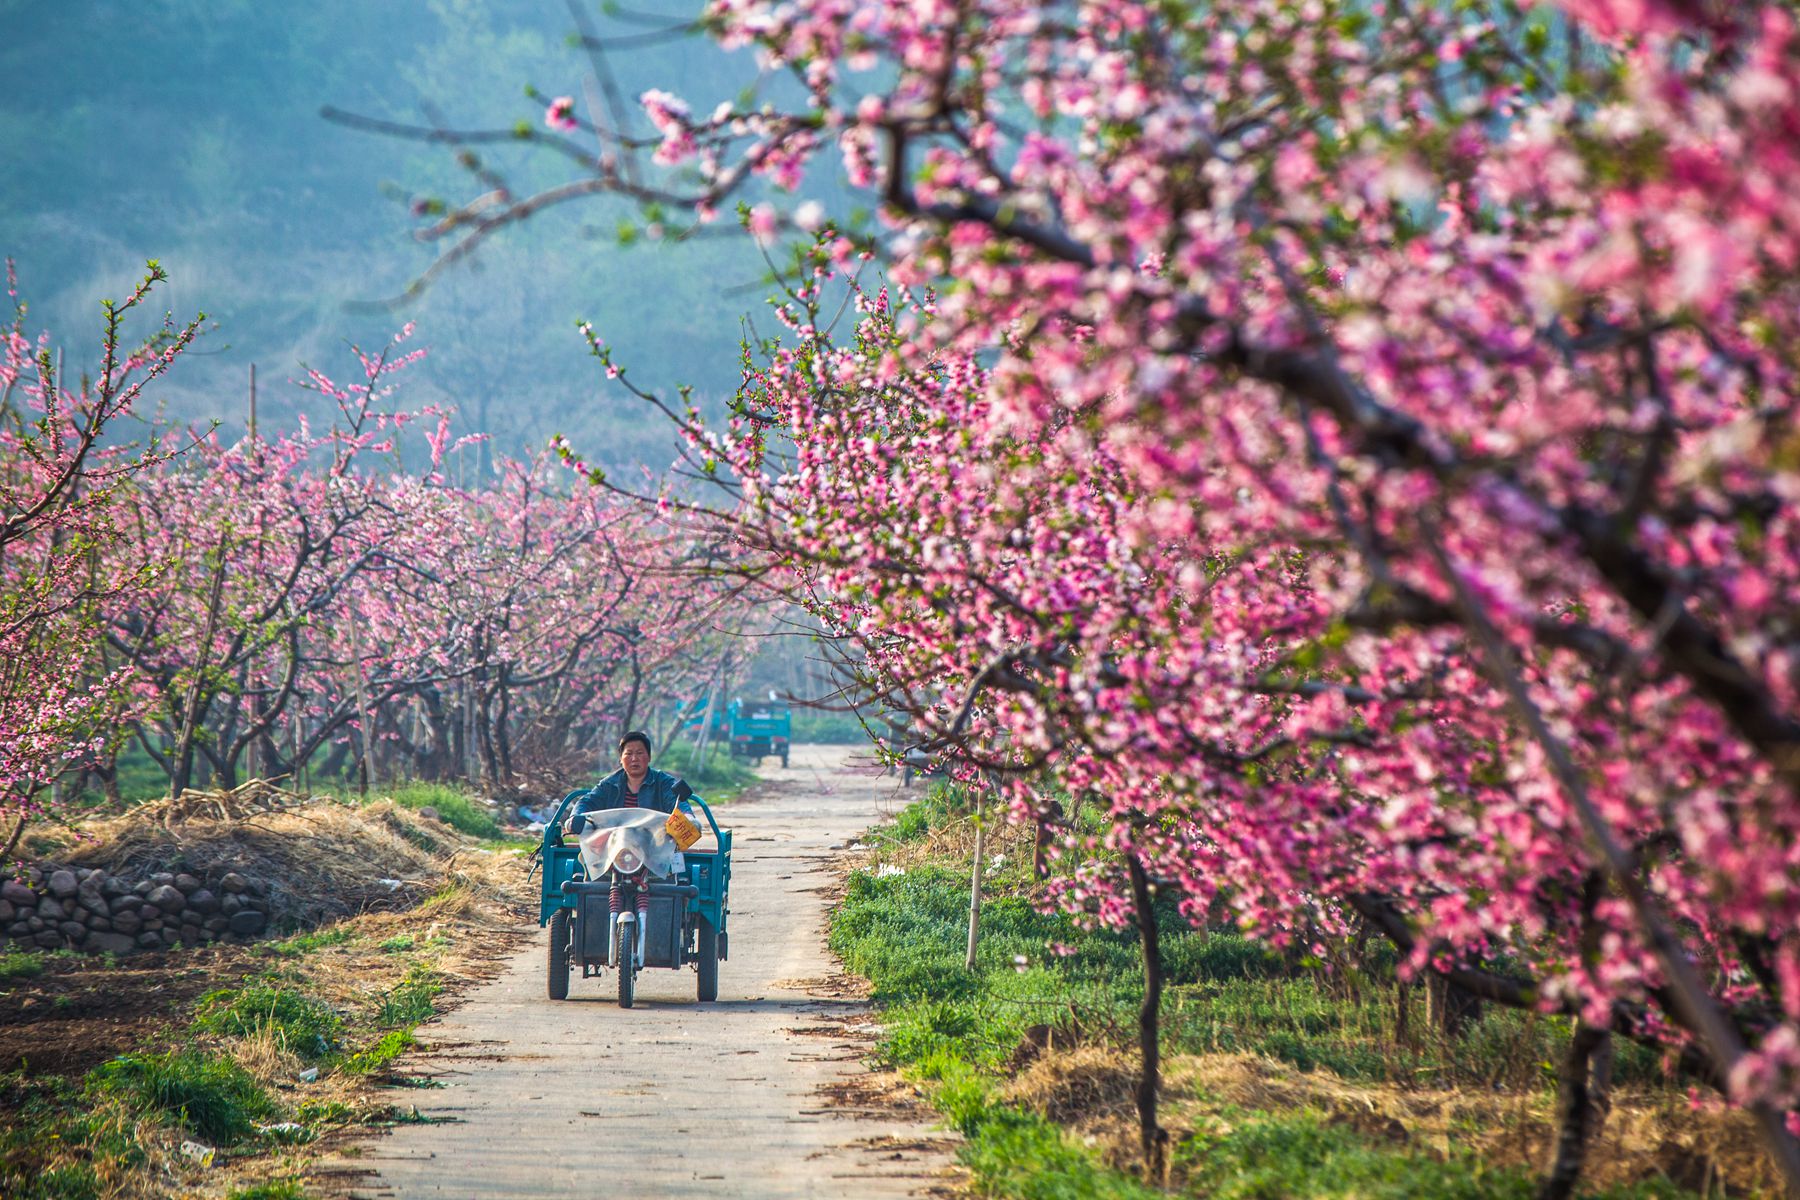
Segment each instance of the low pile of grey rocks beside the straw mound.
[[268,928],[268,885],[236,871],[130,880],[97,867],[27,867],[23,880],[0,883],[0,945],[130,954],[245,943]]

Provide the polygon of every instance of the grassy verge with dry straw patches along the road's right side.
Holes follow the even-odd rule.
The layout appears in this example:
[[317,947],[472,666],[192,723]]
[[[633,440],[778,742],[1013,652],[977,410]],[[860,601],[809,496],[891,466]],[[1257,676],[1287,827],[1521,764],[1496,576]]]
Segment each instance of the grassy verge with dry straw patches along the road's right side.
[[[963,1135],[977,1193],[1535,1195],[1559,1022],[1501,1009],[1454,1040],[1426,1036],[1424,999],[1391,979],[1327,973],[1229,930],[1193,930],[1174,910],[1159,912],[1170,1177],[1145,1182],[1132,1106],[1136,937],[1039,912],[1030,844],[1003,833],[990,840],[976,970],[965,970],[970,838],[954,793],[934,790],[869,840],[878,849],[850,876],[832,948],[884,1007],[880,1054],[923,1081]],[[1728,1162],[1742,1133],[1733,1114],[1692,1114],[1640,1051],[1620,1047],[1616,1070],[1582,1195],[1694,1196],[1719,1171],[1735,1171],[1728,1195],[1760,1193],[1760,1168]]]

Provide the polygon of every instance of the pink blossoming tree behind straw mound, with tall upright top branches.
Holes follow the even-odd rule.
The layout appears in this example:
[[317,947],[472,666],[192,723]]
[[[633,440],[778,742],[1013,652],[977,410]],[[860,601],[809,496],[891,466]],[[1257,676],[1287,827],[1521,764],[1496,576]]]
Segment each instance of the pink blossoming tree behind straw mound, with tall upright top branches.
[[[419,353],[360,356],[364,378],[351,389],[310,371],[308,385],[340,410],[328,430],[302,421],[236,444],[200,435],[178,470],[131,495],[139,543],[169,569],[158,587],[106,606],[108,640],[149,702],[139,741],[167,770],[171,793],[194,781],[200,759],[234,784],[245,754],[272,745],[308,682],[342,657],[338,639],[320,644],[306,630],[338,615],[349,581],[401,536],[407,511],[362,461],[391,452],[419,416],[383,405],[389,376]],[[299,757],[353,716],[315,721]]]

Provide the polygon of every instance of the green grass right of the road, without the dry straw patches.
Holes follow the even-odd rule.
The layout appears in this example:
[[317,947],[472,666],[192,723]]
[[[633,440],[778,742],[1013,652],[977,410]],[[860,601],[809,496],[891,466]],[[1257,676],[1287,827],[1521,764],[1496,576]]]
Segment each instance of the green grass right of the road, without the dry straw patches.
[[[916,842],[959,811],[954,790],[934,788],[882,837]],[[1030,864],[1003,862],[988,876],[976,970],[968,972],[967,871],[956,862],[850,878],[830,939],[846,966],[869,979],[886,1009],[880,1054],[927,1083],[932,1103],[965,1137],[961,1157],[981,1195],[1165,1195],[1105,1168],[1091,1148],[1046,1117],[999,1099],[1006,1063],[1031,1025],[1048,1024],[1064,1036],[1132,1054],[1143,988],[1134,932],[1082,930],[1066,914],[1033,910],[1010,894],[1026,883]],[[1165,1054],[1264,1054],[1301,1070],[1372,1083],[1541,1088],[1548,1085],[1543,1063],[1561,1052],[1568,1036],[1566,1025],[1550,1018],[1489,1009],[1449,1045],[1408,1040],[1399,1031],[1391,979],[1327,975],[1235,932],[1195,930],[1172,907],[1159,909],[1157,925],[1166,977]],[[1062,954],[1053,954],[1053,945]],[[1382,963],[1377,959],[1372,970],[1382,970]],[[1411,1027],[1424,1029],[1422,997],[1415,1004]],[[1618,1049],[1622,1081],[1665,1081],[1652,1058],[1634,1047]],[[1535,1191],[1526,1173],[1456,1155],[1440,1160],[1330,1124],[1321,1114],[1247,1112],[1226,1124],[1228,1133],[1175,1148],[1175,1166],[1190,1178],[1183,1195],[1523,1200]],[[1598,1195],[1649,1200],[1685,1193],[1645,1184]]]

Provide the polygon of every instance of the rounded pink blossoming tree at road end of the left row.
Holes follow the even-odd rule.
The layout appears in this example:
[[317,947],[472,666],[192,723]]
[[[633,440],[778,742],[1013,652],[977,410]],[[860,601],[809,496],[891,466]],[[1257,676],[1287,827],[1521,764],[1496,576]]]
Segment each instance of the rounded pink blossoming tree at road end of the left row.
[[432,570],[371,574],[356,606],[364,628],[394,639],[394,660],[455,680],[454,705],[441,687],[419,691],[387,736],[412,756],[461,757],[470,777],[592,770],[598,730],[691,694],[698,648],[742,621],[720,612],[716,585],[668,570],[691,536],[596,489],[571,495],[547,462],[500,461],[490,488],[441,516],[450,527],[418,560]]

